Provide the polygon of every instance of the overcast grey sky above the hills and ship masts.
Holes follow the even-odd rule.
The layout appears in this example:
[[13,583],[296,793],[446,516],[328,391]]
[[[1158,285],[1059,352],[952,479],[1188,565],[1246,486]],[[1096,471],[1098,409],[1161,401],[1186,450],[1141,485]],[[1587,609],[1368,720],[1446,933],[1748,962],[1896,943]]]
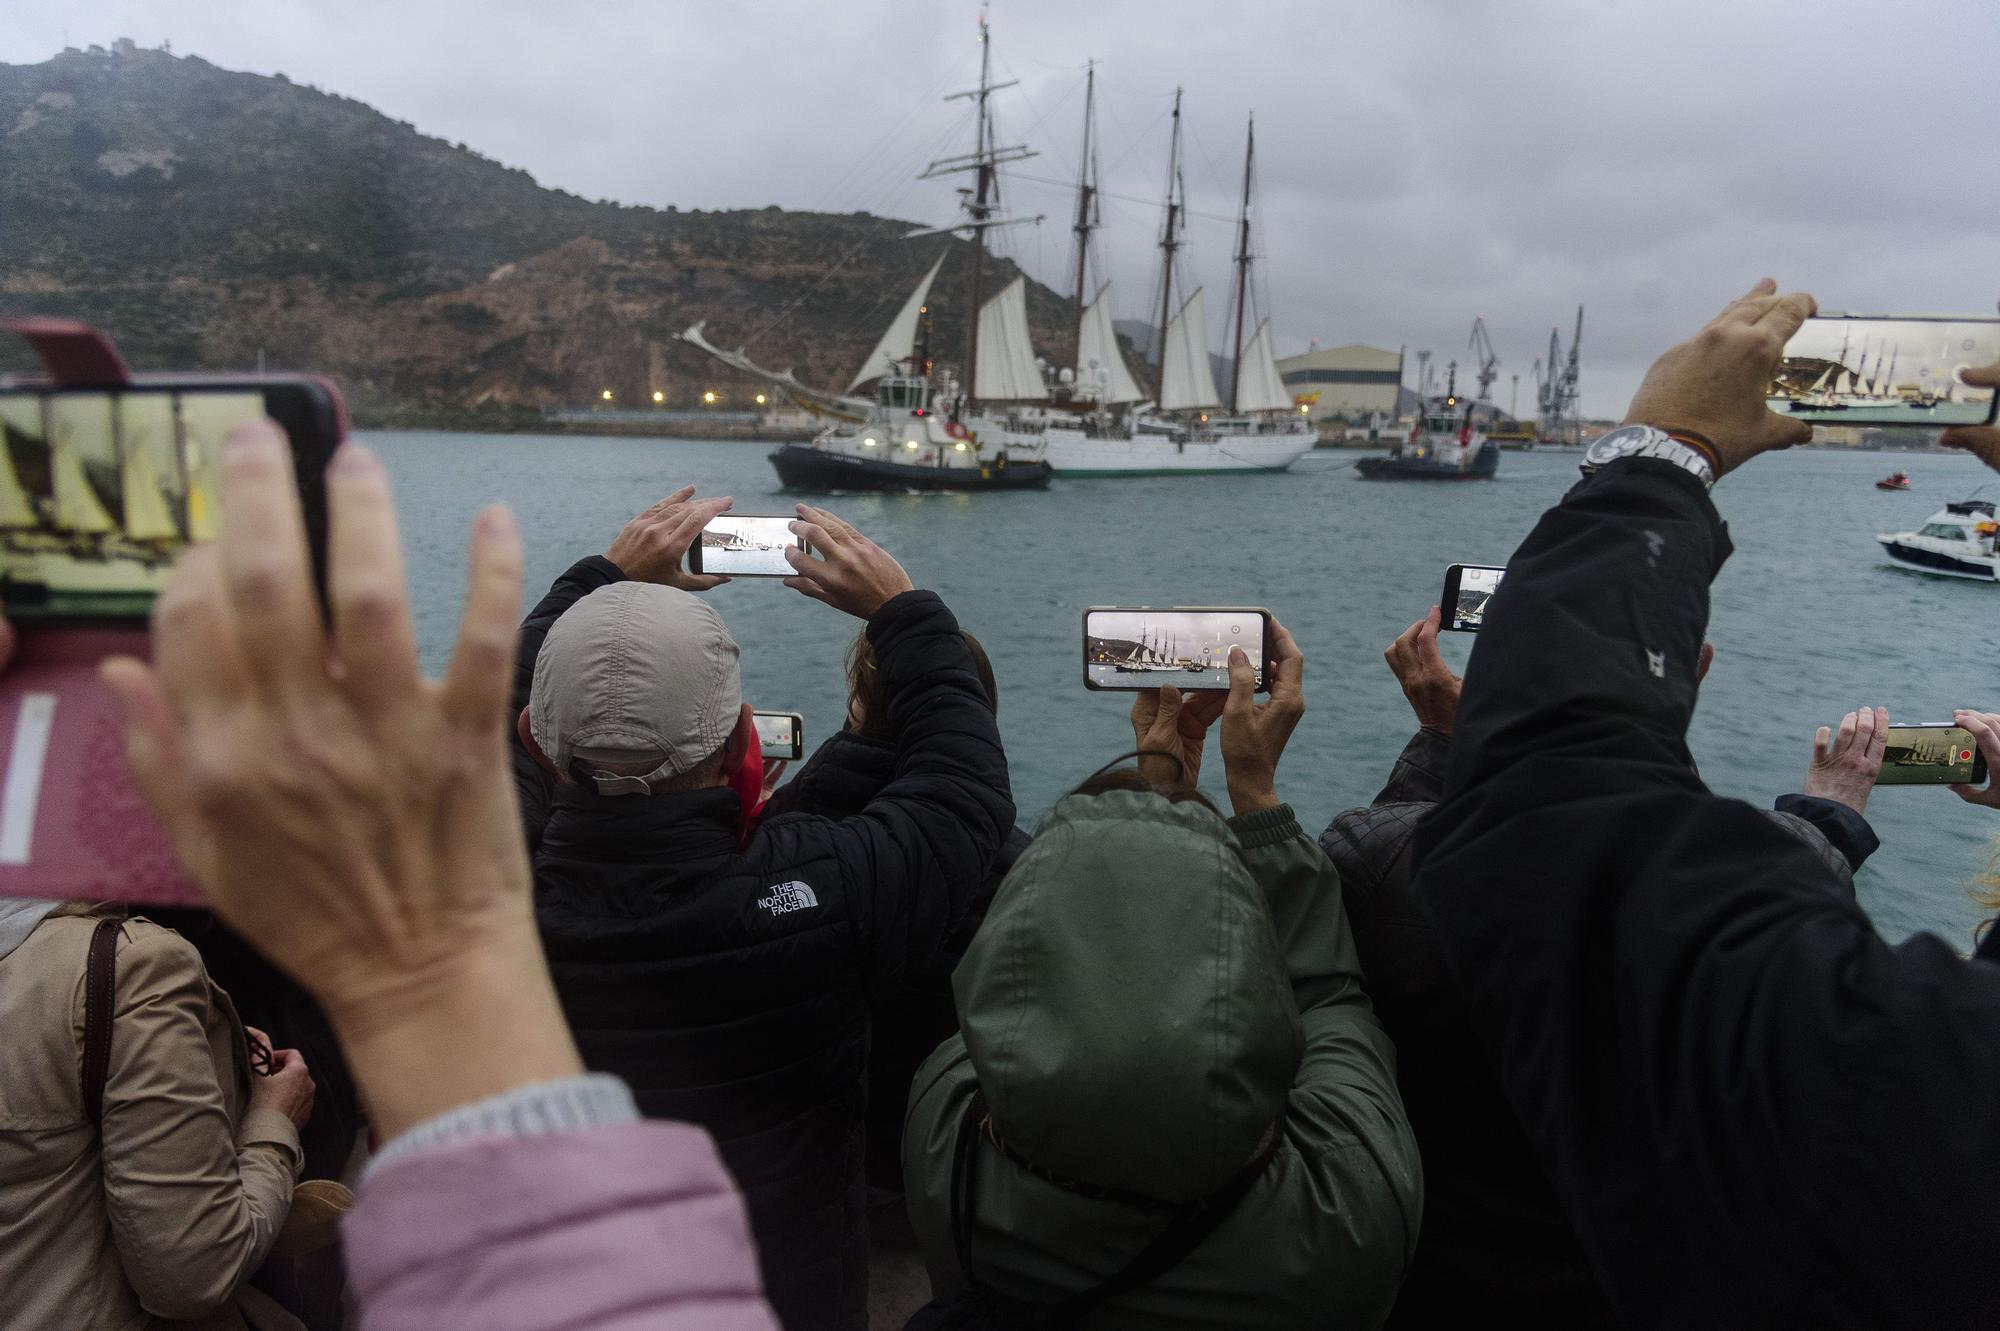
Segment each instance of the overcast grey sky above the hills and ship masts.
[[[910,176],[970,140],[974,0],[14,0],[0,60],[170,40],[464,140],[588,198],[940,220]],[[1002,136],[1076,172],[1100,70],[1102,236],[1146,316],[1166,108],[1186,88],[1186,252],[1224,340],[1244,116],[1278,354],[1432,348],[1484,314],[1532,400],[1552,324],[1588,306],[1586,412],[1770,272],[1830,310],[2000,298],[2000,2],[994,0]],[[1006,248],[1066,290],[1068,192]],[[922,242],[914,242],[922,244]]]

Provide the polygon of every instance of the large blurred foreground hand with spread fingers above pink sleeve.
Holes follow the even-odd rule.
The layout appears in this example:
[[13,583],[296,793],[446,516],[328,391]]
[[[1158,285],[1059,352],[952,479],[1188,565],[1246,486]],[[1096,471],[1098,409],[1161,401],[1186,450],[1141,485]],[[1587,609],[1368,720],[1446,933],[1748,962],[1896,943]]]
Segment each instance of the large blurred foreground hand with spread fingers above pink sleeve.
[[470,1099],[576,1075],[508,781],[520,534],[478,516],[442,681],[416,664],[382,464],[326,476],[322,626],[284,436],[238,428],[222,540],[154,604],[154,664],[104,681],[126,757],[214,911],[326,1009],[388,1135]]

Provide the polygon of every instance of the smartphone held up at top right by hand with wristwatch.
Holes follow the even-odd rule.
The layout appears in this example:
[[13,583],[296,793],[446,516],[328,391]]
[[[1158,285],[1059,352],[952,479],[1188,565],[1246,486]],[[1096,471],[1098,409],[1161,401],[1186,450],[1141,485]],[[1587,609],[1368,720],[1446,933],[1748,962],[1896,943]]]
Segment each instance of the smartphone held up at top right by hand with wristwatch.
[[1816,426],[1984,426],[1994,390],[1964,372],[2000,360],[2000,318],[1822,314],[1784,344],[1770,410]]

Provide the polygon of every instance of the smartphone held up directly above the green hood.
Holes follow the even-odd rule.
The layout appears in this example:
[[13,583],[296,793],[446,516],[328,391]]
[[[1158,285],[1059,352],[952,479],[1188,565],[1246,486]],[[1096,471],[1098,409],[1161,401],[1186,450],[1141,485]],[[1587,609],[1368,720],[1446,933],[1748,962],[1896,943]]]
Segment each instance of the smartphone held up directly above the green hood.
[[1242,648],[1264,691],[1270,612],[1214,606],[1092,606],[1084,612],[1086,689],[1228,689],[1230,648]]

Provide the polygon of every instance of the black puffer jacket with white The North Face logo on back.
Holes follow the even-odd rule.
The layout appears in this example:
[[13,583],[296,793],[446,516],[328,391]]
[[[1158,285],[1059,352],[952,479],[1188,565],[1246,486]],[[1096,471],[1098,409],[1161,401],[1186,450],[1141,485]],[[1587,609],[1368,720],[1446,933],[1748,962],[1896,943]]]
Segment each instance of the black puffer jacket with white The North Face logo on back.
[[[528,616],[516,703],[548,626],[618,582],[564,574]],[[930,973],[1014,821],[1006,757],[952,612],[906,592],[868,624],[894,775],[854,817],[782,813],[736,853],[730,789],[598,795],[516,745],[536,913],[592,1069],[700,1123],[744,1191],[786,1327],[866,1323],[862,1105],[870,1007]]]

